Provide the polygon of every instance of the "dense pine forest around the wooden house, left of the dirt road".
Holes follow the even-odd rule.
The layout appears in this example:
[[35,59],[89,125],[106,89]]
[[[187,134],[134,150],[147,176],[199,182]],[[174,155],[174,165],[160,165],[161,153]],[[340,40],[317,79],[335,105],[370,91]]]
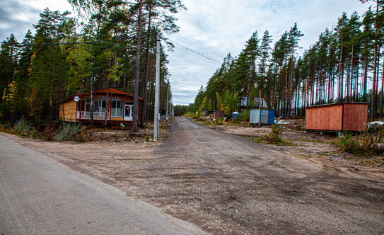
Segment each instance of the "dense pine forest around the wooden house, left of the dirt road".
[[[77,17],[46,8],[34,35],[28,30],[23,42],[12,34],[1,42],[1,122],[24,117],[34,127],[52,126],[63,98],[107,87],[134,94],[135,107],[137,97],[144,98],[140,125],[153,119],[157,30],[161,38],[178,32],[175,13],[186,10],[181,0],[69,2]],[[169,86],[166,51],[172,47],[161,47],[161,110]],[[137,108],[133,112],[137,119]]]

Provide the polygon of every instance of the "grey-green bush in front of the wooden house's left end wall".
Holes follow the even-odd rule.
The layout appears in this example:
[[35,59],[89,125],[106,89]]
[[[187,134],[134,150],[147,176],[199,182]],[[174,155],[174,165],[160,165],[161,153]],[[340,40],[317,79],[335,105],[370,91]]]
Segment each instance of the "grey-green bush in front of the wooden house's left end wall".
[[65,122],[54,139],[57,141],[76,140],[85,142],[85,127],[81,127],[80,123]]

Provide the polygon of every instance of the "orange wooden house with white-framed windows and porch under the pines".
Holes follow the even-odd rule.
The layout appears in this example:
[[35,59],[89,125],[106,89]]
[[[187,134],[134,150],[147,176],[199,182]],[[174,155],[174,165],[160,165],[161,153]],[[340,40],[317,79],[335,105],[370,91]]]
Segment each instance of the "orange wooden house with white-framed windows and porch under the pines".
[[[132,127],[134,95],[116,88],[110,88],[107,95],[107,88],[103,88],[94,91],[93,99],[93,122],[95,124],[104,124],[105,115],[107,115],[107,125],[111,127],[120,127],[121,123],[125,128],[129,129]],[[137,120],[139,120],[139,110],[142,100],[143,99],[139,97]],[[69,122],[90,123],[91,91],[76,93],[64,98],[60,103],[60,118]]]

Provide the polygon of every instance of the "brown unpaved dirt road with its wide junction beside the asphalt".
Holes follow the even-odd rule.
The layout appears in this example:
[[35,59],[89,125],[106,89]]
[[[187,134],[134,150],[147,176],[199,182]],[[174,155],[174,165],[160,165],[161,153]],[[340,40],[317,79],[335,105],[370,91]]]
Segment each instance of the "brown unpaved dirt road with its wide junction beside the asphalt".
[[384,174],[175,117],[161,144],[21,141],[213,234],[383,234]]

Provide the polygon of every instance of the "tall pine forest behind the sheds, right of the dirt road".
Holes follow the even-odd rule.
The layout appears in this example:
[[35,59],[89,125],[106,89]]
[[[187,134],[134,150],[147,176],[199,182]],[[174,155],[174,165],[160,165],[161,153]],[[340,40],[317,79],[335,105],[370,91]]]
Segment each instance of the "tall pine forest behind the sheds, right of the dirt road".
[[257,107],[261,95],[284,117],[303,116],[308,105],[368,102],[371,120],[382,118],[384,2],[374,3],[363,16],[343,13],[307,50],[297,23],[274,45],[268,30],[255,31],[240,55],[223,59],[194,103],[175,106],[175,113],[223,110],[230,116]]

